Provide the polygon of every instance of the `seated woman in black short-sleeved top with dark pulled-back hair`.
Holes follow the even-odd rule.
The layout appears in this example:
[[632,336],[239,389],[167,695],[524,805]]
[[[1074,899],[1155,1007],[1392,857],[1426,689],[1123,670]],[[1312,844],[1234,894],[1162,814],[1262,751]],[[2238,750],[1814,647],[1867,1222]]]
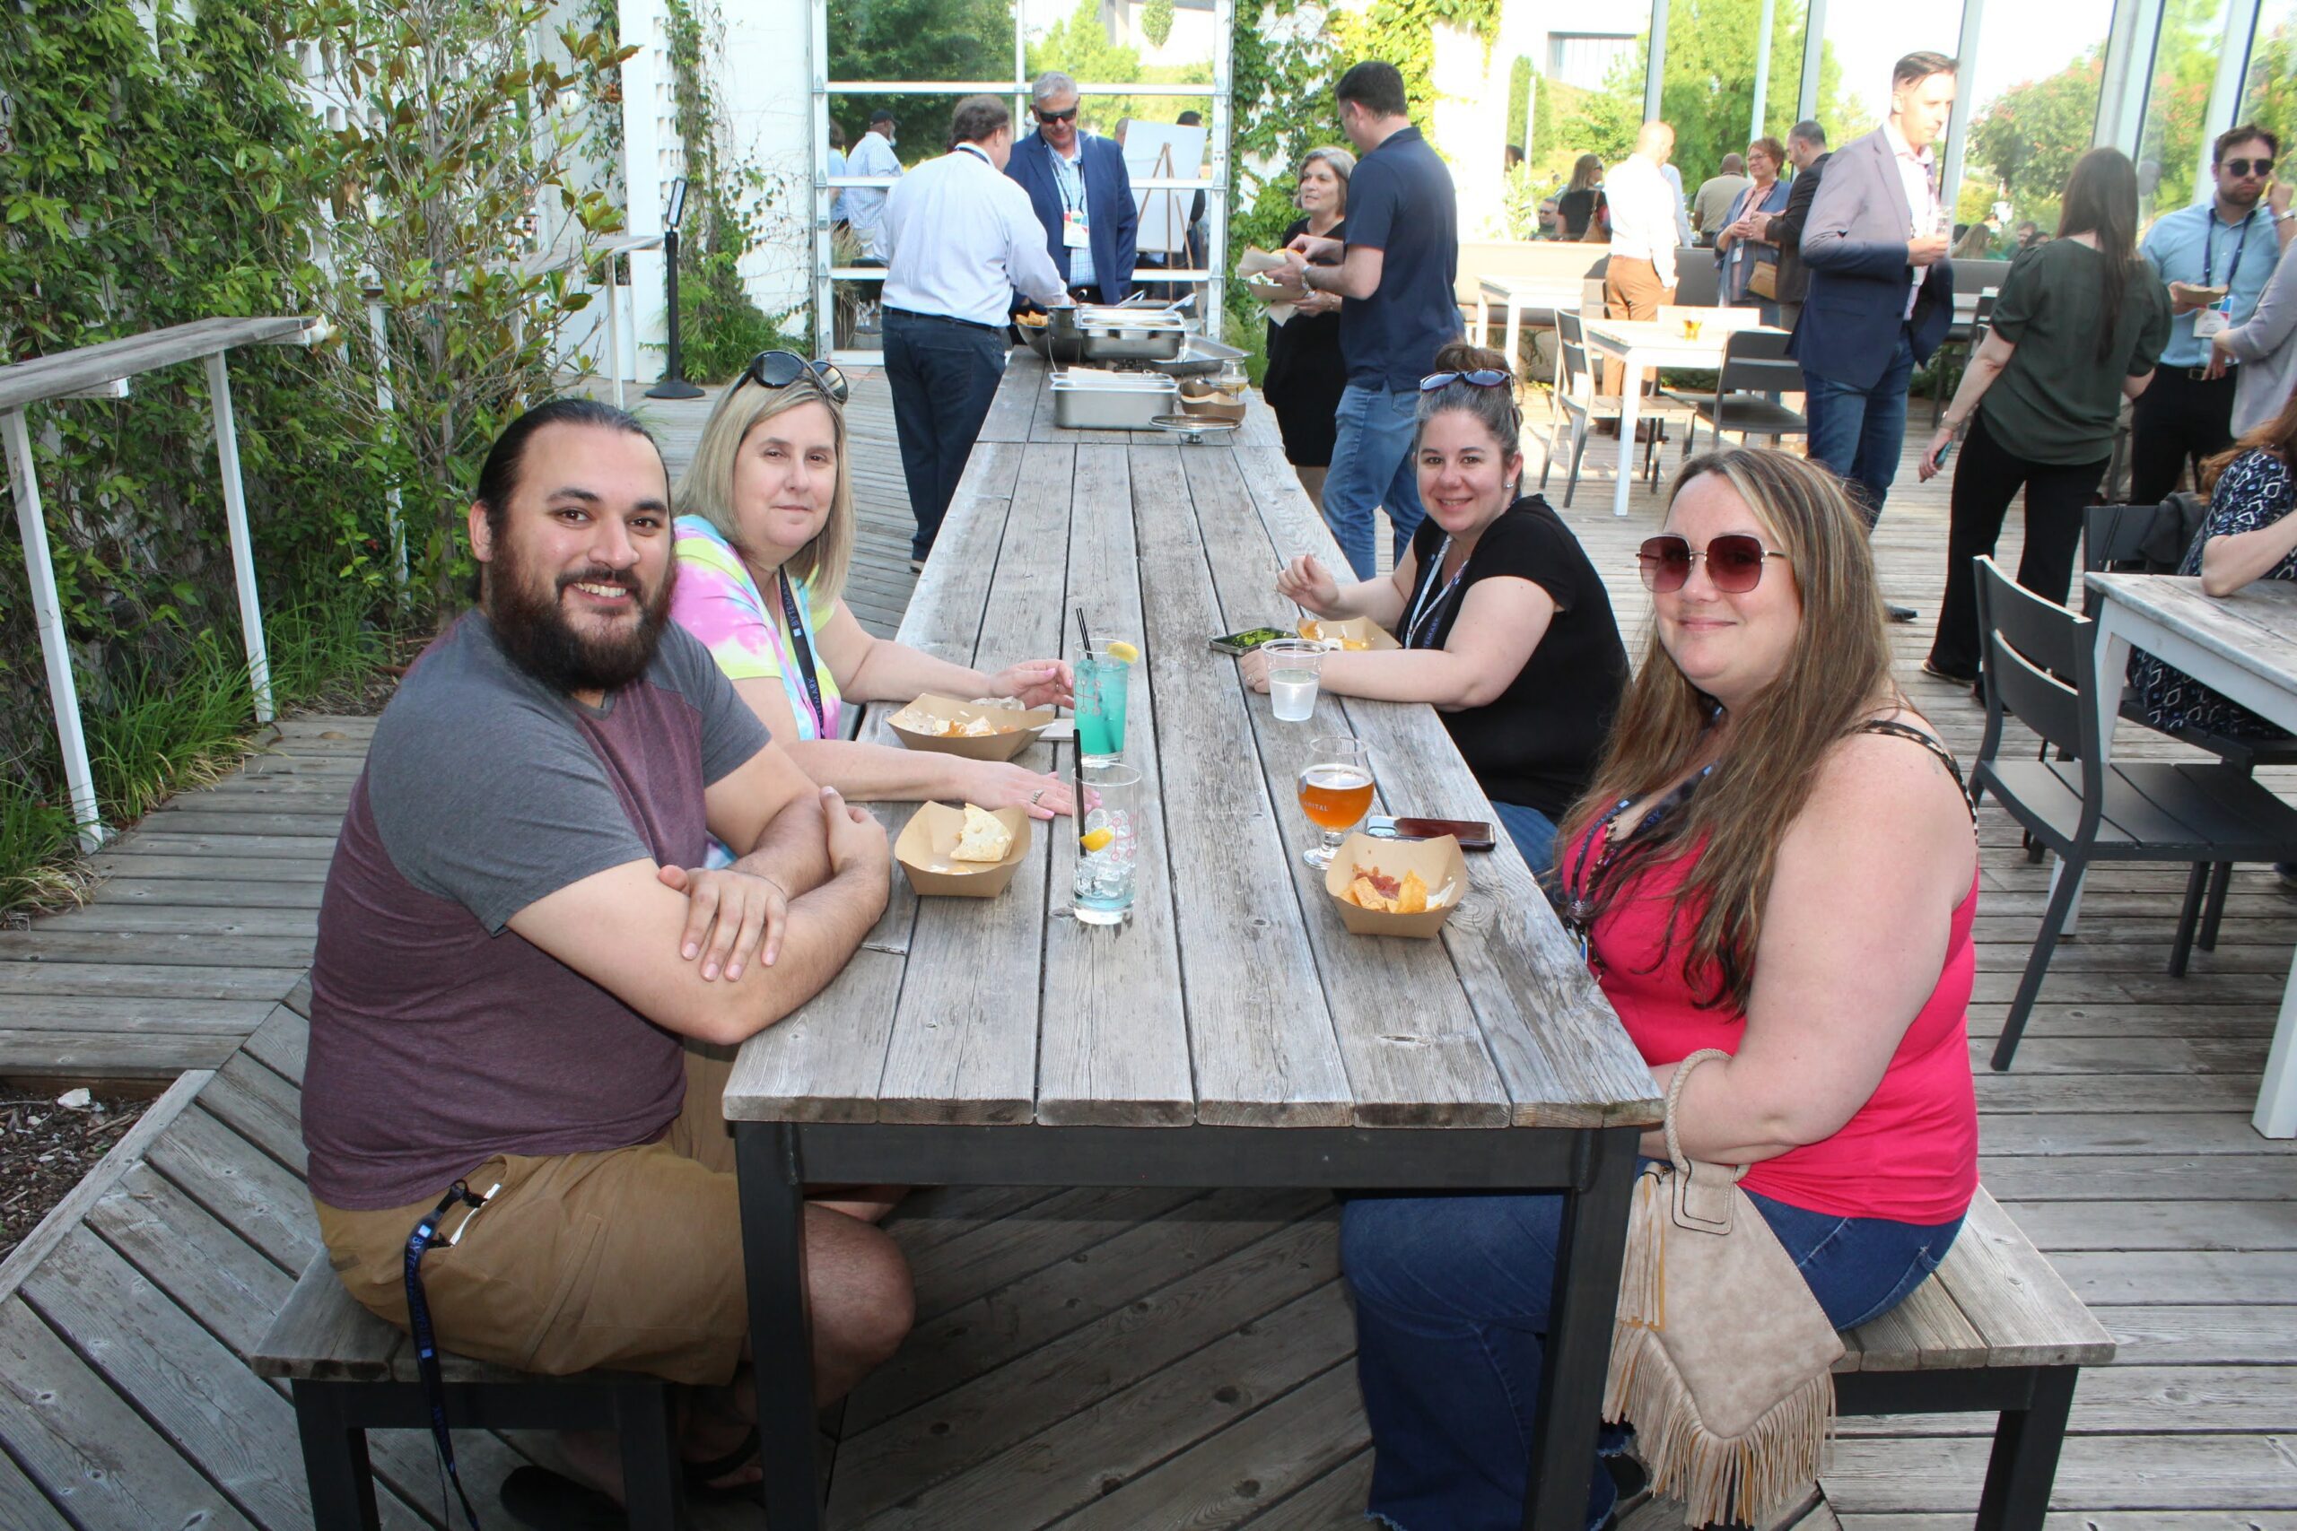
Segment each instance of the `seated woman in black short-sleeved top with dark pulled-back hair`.
[[[1578,537],[1539,496],[1516,498],[1521,429],[1507,358],[1447,344],[1420,393],[1415,459],[1429,514],[1394,576],[1337,585],[1302,553],[1277,590],[1321,617],[1371,617],[1403,643],[1325,654],[1321,686],[1433,702],[1523,861],[1546,879],[1555,822],[1587,787],[1626,686],[1626,647]],[[1240,663],[1245,682],[1266,691],[1266,661]]]

